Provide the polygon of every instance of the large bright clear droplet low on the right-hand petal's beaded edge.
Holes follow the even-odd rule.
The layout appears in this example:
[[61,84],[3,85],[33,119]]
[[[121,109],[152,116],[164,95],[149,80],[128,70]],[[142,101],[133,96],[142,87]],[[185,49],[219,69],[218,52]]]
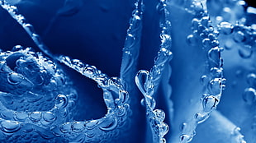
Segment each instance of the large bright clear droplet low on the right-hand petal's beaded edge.
[[216,105],[219,104],[219,100],[215,96],[209,95],[202,100],[202,107],[206,113],[210,113]]

